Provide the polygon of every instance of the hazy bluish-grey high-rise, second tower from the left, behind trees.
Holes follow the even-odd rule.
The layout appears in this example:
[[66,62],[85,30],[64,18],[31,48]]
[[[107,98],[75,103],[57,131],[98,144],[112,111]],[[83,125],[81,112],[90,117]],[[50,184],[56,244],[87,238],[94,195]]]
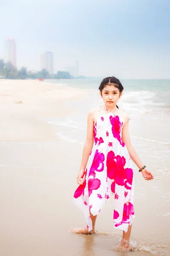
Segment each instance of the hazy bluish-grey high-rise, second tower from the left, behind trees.
[[54,73],[54,58],[53,58],[52,52],[42,53],[40,66],[41,66],[41,70],[45,68],[46,70],[48,70],[49,74]]

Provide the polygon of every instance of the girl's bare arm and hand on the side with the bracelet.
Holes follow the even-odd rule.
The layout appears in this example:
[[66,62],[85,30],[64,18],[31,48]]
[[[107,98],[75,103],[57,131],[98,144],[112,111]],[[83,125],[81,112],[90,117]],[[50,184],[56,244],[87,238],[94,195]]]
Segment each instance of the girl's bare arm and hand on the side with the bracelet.
[[[133,148],[131,142],[130,142],[130,136],[129,136],[129,119],[127,118],[127,121],[125,122],[125,125],[122,129],[122,141],[125,143],[127,147],[127,151],[130,154],[130,158],[133,160],[133,162],[138,166],[139,169],[141,169],[144,164],[140,160],[138,154],[136,153],[135,149]],[[153,179],[153,174],[147,169],[142,170],[142,175],[145,180],[151,180]]]

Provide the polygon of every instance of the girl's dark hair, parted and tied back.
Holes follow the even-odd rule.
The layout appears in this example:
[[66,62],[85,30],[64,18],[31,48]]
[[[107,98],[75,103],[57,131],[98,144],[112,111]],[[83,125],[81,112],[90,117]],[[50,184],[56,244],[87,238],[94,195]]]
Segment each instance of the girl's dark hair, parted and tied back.
[[[101,93],[102,93],[102,90],[106,87],[106,85],[114,85],[119,90],[119,93],[122,93],[122,91],[124,89],[123,85],[121,84],[119,79],[117,79],[114,76],[109,76],[102,80],[102,82],[99,86],[99,90],[101,91]],[[118,108],[118,106],[117,106],[117,108]]]

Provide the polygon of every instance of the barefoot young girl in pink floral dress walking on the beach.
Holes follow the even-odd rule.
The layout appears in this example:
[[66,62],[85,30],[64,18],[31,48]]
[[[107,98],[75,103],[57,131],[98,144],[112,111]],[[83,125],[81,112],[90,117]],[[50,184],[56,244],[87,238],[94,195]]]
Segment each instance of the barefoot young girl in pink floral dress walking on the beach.
[[87,228],[76,233],[95,233],[95,222],[105,202],[114,195],[113,224],[123,230],[119,247],[131,250],[129,241],[132,222],[136,163],[145,180],[153,174],[144,166],[130,143],[129,117],[116,105],[123,86],[114,76],[103,79],[99,86],[104,105],[88,114],[87,139],[74,193],[74,202],[85,214]]

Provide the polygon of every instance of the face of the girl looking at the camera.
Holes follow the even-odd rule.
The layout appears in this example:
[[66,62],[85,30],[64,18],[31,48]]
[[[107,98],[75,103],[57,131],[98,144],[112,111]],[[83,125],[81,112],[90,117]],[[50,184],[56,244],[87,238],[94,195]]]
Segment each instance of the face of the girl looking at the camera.
[[100,92],[100,96],[106,106],[113,108],[116,106],[119,98],[122,97],[122,93],[114,85],[106,85],[102,93]]

